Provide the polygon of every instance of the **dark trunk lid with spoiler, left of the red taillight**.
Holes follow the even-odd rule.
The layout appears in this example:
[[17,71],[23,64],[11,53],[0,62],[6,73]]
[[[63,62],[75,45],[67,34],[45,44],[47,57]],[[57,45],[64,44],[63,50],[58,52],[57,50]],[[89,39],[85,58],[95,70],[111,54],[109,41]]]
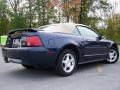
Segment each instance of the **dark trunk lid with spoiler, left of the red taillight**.
[[21,47],[22,39],[27,37],[26,33],[34,33],[37,30],[34,29],[17,29],[10,31],[8,34],[8,39],[6,43],[6,47],[9,48],[19,48]]

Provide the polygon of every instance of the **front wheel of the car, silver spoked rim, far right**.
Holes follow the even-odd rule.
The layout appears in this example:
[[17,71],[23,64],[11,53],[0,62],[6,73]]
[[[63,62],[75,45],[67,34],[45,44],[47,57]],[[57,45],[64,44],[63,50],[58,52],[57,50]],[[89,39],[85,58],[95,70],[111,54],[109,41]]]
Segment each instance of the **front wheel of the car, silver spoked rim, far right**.
[[118,50],[115,49],[115,48],[111,48],[110,51],[109,51],[109,57],[106,60],[106,62],[109,63],[109,64],[112,64],[112,63],[117,62],[118,59],[119,59],[119,52],[118,52]]

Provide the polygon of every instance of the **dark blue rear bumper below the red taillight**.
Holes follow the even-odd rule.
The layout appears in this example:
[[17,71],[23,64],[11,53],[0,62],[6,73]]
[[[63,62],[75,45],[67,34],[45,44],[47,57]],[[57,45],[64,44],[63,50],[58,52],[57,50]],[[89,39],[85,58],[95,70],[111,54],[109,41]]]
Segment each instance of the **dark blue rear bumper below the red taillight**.
[[44,47],[2,48],[5,62],[50,67],[56,61],[56,52]]

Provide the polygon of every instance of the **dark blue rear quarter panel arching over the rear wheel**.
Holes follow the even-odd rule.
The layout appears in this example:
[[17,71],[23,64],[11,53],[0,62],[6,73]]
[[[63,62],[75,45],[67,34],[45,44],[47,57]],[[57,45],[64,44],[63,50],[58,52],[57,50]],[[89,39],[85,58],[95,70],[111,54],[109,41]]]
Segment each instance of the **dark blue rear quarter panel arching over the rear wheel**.
[[[83,38],[81,36],[74,36],[61,33],[46,33],[40,32],[40,37],[44,43],[44,46],[56,53],[57,57],[62,50],[68,45],[74,46],[80,51],[79,55],[82,55],[83,51]],[[56,57],[56,59],[57,59]]]

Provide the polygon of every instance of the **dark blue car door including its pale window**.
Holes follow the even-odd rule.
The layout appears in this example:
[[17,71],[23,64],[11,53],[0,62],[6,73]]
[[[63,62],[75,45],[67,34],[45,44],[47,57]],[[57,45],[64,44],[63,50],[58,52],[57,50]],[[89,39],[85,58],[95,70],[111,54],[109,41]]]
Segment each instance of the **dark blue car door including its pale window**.
[[84,42],[82,43],[83,59],[87,61],[101,60],[108,56],[107,43],[99,39],[99,35],[89,27],[77,26]]

